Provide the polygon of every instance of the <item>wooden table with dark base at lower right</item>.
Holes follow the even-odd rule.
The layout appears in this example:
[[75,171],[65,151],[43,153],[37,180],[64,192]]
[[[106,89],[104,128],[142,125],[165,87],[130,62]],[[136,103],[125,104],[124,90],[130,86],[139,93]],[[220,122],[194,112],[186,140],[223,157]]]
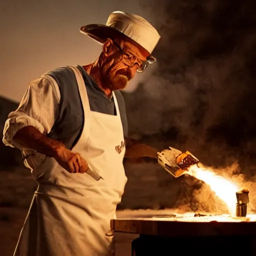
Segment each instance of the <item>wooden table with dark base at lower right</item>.
[[111,228],[115,232],[139,234],[131,243],[131,255],[136,256],[256,255],[256,221],[180,220],[120,218],[111,220]]

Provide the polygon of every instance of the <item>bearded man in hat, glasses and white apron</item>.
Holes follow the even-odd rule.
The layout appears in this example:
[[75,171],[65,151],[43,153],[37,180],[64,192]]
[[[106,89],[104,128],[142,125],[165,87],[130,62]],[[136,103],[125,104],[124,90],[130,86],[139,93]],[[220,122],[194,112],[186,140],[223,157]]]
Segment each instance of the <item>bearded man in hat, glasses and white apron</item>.
[[14,255],[113,254],[110,219],[127,180],[124,153],[157,158],[127,138],[118,90],[155,61],[158,32],[121,11],[80,31],[103,44],[96,61],[32,81],[5,123],[3,142],[22,151],[38,182]]

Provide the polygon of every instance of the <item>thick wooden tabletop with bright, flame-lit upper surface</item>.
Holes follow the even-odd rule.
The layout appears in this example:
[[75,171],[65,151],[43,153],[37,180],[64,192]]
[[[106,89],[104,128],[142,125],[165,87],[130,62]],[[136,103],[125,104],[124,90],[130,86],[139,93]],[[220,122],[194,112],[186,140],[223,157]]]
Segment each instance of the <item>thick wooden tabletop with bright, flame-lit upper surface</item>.
[[119,218],[111,220],[114,231],[162,236],[256,235],[256,221],[177,221],[173,218]]

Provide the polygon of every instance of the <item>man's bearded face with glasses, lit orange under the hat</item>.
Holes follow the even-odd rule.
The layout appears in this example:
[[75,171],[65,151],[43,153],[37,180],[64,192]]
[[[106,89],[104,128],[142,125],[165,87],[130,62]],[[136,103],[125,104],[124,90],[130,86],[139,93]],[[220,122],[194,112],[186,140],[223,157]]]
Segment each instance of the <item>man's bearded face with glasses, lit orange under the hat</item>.
[[111,90],[123,89],[149,55],[125,40],[108,40],[103,45],[103,52],[105,57],[101,65],[101,78]]

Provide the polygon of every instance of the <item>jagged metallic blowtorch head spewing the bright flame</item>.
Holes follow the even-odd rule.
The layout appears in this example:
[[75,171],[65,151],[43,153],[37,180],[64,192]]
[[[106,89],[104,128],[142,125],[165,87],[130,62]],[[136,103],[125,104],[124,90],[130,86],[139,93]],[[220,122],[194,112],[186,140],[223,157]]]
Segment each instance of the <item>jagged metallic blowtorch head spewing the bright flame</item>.
[[185,173],[188,167],[197,164],[199,160],[189,151],[182,153],[173,147],[158,152],[158,163],[174,177]]

